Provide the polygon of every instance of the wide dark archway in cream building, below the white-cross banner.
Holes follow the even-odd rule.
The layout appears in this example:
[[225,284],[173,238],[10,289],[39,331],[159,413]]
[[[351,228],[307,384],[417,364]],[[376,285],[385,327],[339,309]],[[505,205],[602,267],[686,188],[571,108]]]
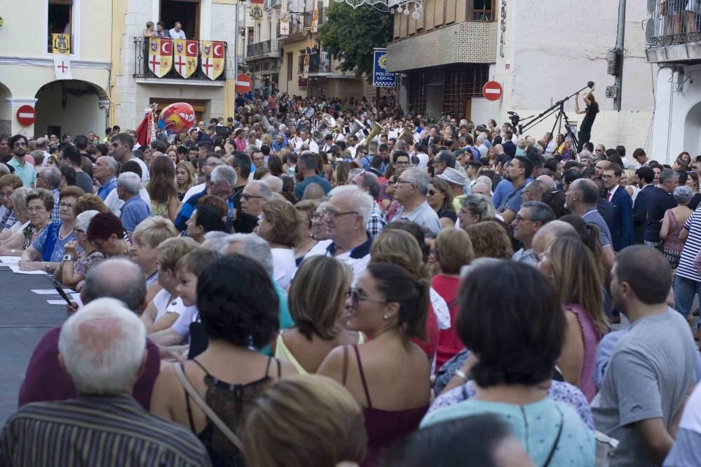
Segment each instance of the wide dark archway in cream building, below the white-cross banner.
[[53,81],[36,92],[36,136],[102,134],[107,126],[107,92],[87,81]]

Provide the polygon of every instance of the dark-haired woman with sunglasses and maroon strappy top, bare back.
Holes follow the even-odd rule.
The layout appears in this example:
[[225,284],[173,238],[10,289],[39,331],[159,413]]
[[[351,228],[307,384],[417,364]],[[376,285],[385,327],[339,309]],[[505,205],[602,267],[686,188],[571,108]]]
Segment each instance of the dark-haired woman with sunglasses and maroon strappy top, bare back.
[[426,336],[428,284],[403,267],[371,263],[346,299],[346,328],[372,337],[336,347],[318,374],[341,382],[365,414],[368,452],[377,465],[383,448],[411,433],[428,409],[429,365],[413,337]]

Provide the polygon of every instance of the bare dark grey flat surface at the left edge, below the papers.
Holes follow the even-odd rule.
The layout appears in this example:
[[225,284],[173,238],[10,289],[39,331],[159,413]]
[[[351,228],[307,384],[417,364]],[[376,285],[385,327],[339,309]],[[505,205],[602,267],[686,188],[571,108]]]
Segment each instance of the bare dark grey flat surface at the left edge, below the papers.
[[38,295],[32,288],[52,288],[47,276],[13,274],[0,265],[0,423],[15,412],[17,393],[32,350],[46,330],[66,319],[66,308],[46,300],[60,295]]

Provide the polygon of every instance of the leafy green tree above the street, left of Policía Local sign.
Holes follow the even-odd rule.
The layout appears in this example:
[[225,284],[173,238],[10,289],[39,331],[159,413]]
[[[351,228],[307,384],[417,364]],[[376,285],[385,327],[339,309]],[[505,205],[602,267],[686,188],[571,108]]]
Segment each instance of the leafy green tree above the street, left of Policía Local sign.
[[335,1],[327,9],[327,20],[319,27],[319,38],[325,51],[341,53],[341,71],[365,74],[372,80],[373,48],[386,47],[392,40],[393,15],[367,6],[357,10]]

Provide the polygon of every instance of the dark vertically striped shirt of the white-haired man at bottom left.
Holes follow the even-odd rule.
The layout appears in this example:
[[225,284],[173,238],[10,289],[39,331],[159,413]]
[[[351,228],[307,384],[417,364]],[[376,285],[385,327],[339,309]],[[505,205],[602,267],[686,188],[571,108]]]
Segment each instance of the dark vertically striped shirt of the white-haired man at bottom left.
[[20,408],[0,435],[0,466],[210,466],[187,428],[126,394],[79,396]]

